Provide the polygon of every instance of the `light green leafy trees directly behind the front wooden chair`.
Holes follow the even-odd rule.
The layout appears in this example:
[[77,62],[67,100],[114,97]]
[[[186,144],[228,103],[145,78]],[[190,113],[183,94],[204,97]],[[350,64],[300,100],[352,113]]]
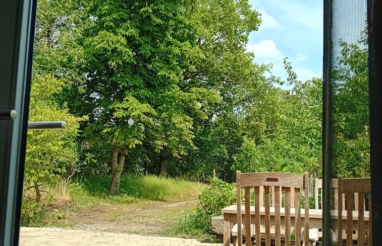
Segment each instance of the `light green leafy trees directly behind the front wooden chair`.
[[286,83],[292,89],[276,92],[277,100],[275,97],[269,97],[272,101],[268,99],[272,107],[266,112],[276,121],[271,125],[273,131],[263,135],[260,141],[256,140],[256,135],[244,138],[234,155],[233,170],[320,173],[322,80],[300,81],[287,59],[284,65],[288,73]]

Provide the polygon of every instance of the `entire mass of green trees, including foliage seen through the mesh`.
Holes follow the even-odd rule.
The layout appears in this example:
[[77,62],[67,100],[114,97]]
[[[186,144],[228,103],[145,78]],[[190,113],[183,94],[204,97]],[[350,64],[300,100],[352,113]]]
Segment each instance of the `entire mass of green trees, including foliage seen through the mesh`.
[[[39,200],[79,172],[111,177],[113,194],[124,173],[320,176],[322,80],[298,80],[287,59],[287,81],[265,75],[246,51],[259,25],[248,0],[39,1],[30,120],[68,127],[28,133],[26,188]],[[341,41],[334,72],[345,176],[368,175],[368,105],[352,100],[367,97],[364,42]]]

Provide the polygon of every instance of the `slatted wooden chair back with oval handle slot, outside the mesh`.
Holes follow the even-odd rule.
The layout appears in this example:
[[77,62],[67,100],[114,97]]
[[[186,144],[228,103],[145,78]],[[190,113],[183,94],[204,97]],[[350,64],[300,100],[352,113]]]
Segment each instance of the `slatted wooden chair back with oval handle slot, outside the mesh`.
[[[284,173],[241,173],[236,171],[236,184],[237,184],[237,222],[238,222],[238,238],[241,238],[241,190],[244,189],[244,200],[245,200],[245,226],[250,228],[251,217],[250,217],[250,200],[251,200],[251,188],[254,191],[254,209],[255,209],[255,240],[260,242],[260,187],[264,189],[264,210],[265,210],[265,246],[270,246],[270,191],[274,190],[275,203],[275,245],[281,245],[281,222],[285,225],[285,245],[291,245],[291,204],[295,208],[295,241],[301,241],[301,203],[300,194],[301,189],[304,190],[305,196],[305,211],[304,211],[304,230],[305,230],[305,242],[309,242],[309,177],[308,173],[304,175],[299,174],[284,174]],[[281,191],[284,188],[284,204],[285,204],[285,219],[281,220]],[[294,194],[294,199],[291,199],[291,194]],[[246,230],[246,238],[250,240],[251,231]],[[248,243],[247,243],[248,244]],[[241,246],[242,242],[239,239],[238,245]],[[260,245],[260,244],[259,244]],[[296,244],[297,245],[297,244]],[[298,244],[299,245],[299,244]]]

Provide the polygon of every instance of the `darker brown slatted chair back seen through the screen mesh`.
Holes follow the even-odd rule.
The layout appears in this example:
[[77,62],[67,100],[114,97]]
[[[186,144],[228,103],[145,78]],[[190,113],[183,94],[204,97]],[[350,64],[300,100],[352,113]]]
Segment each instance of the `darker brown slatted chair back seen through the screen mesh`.
[[[354,194],[357,194],[355,199]],[[368,198],[368,212],[365,212],[365,198]],[[346,206],[343,206],[343,199],[346,200]],[[356,204],[356,206],[353,206]],[[343,228],[346,230],[346,245],[353,244],[353,230],[358,234],[356,242],[358,245],[371,245],[371,217],[370,214],[370,178],[352,178],[343,179],[338,176],[338,245],[342,245]],[[355,209],[353,209],[355,208]],[[343,225],[341,217],[346,211],[346,226]],[[365,215],[369,220],[368,226],[365,226]],[[357,226],[355,226],[357,225]],[[365,237],[366,236],[366,237]]]

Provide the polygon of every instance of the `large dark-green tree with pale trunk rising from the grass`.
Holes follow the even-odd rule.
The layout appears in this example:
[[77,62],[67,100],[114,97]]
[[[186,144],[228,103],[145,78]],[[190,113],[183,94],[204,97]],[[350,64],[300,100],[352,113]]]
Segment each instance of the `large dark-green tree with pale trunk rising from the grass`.
[[[215,92],[182,90],[179,81],[202,57],[195,28],[185,18],[188,1],[92,1],[93,25],[81,41],[87,62],[86,83],[71,91],[76,114],[89,116],[84,136],[91,142],[110,139],[112,182],[119,190],[125,156],[149,142],[156,151],[182,154],[192,145],[192,118],[200,101],[217,101]],[[128,120],[134,120],[129,127]],[[144,129],[144,130],[143,130]]]

